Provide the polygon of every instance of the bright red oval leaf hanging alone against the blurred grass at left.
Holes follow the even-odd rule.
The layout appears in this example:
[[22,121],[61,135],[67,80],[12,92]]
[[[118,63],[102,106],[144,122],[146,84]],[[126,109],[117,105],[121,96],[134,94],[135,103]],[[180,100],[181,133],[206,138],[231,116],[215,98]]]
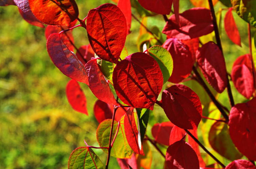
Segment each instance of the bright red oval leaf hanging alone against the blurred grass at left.
[[80,88],[78,82],[71,79],[66,86],[66,95],[69,104],[76,111],[88,115],[86,107],[86,98],[83,90]]

